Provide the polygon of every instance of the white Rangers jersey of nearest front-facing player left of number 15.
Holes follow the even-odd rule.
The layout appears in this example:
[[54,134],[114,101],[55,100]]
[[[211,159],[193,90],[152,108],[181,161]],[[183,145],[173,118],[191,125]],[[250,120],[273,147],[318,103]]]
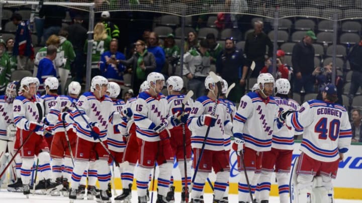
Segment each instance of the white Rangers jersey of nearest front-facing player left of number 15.
[[84,121],[83,117],[89,122],[97,122],[101,131],[100,139],[102,141],[107,140],[108,124],[113,125],[120,124],[122,122],[121,116],[118,112],[113,111],[112,100],[105,95],[100,100],[96,98],[93,92],[85,92],[81,95],[76,103],[79,111],[74,110],[71,113],[71,117],[74,120],[74,127],[76,129],[78,137],[82,139],[99,142],[94,140],[91,135],[91,129]]

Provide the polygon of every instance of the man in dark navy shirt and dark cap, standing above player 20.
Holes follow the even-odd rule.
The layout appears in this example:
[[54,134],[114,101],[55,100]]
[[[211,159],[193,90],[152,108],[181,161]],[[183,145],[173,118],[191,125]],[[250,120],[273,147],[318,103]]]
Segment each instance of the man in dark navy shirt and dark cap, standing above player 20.
[[239,102],[245,93],[245,78],[247,74],[246,59],[242,50],[237,50],[233,38],[225,40],[225,49],[216,60],[216,73],[231,85],[235,83],[228,99]]

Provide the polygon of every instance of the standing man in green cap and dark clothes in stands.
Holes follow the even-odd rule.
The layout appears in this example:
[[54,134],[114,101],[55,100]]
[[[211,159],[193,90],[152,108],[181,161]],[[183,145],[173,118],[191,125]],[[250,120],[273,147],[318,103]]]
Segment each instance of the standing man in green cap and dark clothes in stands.
[[295,44],[292,54],[292,66],[294,70],[294,92],[300,93],[304,87],[305,93],[314,92],[314,47],[316,40],[313,31],[307,31],[303,40]]

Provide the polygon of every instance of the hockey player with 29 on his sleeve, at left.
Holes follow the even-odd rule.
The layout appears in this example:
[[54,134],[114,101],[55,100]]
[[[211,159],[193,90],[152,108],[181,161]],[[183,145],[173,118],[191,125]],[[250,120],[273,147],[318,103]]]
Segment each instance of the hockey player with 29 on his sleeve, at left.
[[30,174],[34,163],[34,155],[39,160],[38,178],[44,180],[36,186],[38,189],[44,189],[46,193],[59,190],[62,185],[55,183],[52,178],[50,168],[50,155],[48,144],[43,137],[44,125],[40,124],[42,111],[44,111],[41,100],[36,97],[37,84],[32,77],[25,77],[21,83],[22,95],[14,100],[14,122],[18,128],[15,148],[21,148],[23,159],[21,166],[21,177],[23,181],[23,193],[30,193]]

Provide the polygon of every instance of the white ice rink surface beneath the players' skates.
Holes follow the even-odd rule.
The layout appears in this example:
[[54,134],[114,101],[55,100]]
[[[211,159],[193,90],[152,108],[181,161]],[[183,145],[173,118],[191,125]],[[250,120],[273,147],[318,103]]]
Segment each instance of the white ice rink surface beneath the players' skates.
[[[120,194],[121,190],[117,190],[117,193]],[[150,194],[151,195],[151,194]],[[157,193],[153,193],[153,202],[156,202]],[[132,202],[137,203],[137,191],[132,191]],[[175,203],[180,202],[181,194],[179,192],[175,192]],[[206,193],[204,195],[204,199],[206,203],[212,202],[213,195],[210,193]],[[1,203],[60,203],[60,202],[69,202],[68,197],[64,196],[50,196],[50,195],[32,195],[30,194],[29,199],[25,197],[23,193],[20,192],[8,192],[5,189],[1,189],[0,191],[0,202]],[[96,202],[96,200],[75,200],[74,202]],[[114,201],[113,201],[114,202]],[[151,202],[151,201],[149,201]],[[236,203],[237,195],[230,194],[229,202]],[[272,196],[269,199],[270,203],[279,203],[279,197]],[[349,200],[349,199],[336,199],[336,203],[357,203],[362,202],[361,200]]]

